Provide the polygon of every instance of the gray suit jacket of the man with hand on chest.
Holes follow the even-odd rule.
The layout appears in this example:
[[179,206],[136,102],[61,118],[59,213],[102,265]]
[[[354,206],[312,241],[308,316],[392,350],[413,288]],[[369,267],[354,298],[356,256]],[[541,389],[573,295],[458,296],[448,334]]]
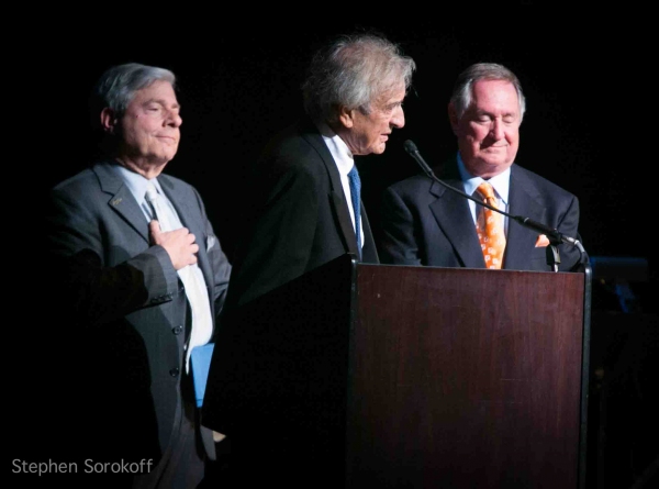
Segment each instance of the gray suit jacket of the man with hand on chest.
[[[167,175],[158,181],[196,236],[215,318],[231,265],[197,190]],[[83,442],[75,443],[90,444],[75,449],[86,458],[152,458],[155,465],[177,433],[186,389],[189,313],[177,271],[161,246],[149,246],[143,211],[107,163],[53,189],[47,238],[53,311],[65,326],[58,365],[70,359],[64,365],[71,368],[59,386],[75,394],[66,400],[76,413],[69,434],[80,432]],[[203,432],[214,457],[210,431]]]

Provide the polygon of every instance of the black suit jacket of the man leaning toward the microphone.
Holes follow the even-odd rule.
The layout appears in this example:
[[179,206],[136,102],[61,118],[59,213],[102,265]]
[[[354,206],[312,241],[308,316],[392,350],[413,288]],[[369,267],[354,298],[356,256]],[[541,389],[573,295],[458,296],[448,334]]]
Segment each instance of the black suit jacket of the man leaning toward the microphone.
[[[304,120],[264,148],[252,178],[255,205],[236,246],[227,309],[304,275],[346,253],[357,238],[340,176],[316,127]],[[378,263],[364,204],[362,262]]]

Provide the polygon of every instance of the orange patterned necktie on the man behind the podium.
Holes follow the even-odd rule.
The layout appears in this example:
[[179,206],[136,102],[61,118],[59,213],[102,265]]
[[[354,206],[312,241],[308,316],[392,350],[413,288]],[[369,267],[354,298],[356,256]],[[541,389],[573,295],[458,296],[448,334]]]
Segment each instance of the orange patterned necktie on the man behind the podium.
[[[483,196],[485,203],[499,209],[492,186],[482,182],[477,191]],[[487,268],[500,269],[503,264],[503,251],[505,249],[505,233],[503,231],[503,215],[487,207],[479,205],[476,231],[483,251]]]

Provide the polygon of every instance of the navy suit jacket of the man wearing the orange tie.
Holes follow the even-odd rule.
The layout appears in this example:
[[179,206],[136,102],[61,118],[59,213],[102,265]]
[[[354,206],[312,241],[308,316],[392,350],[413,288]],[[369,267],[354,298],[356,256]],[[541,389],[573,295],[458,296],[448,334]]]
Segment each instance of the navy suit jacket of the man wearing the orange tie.
[[[456,159],[447,162],[439,179],[462,190]],[[577,197],[514,164],[511,167],[509,213],[529,218],[580,240]],[[382,263],[438,267],[484,268],[468,199],[417,175],[390,186],[383,193]],[[509,219],[503,268],[551,271],[545,247],[535,247],[540,233]],[[576,267],[578,248],[559,246],[560,271]]]

